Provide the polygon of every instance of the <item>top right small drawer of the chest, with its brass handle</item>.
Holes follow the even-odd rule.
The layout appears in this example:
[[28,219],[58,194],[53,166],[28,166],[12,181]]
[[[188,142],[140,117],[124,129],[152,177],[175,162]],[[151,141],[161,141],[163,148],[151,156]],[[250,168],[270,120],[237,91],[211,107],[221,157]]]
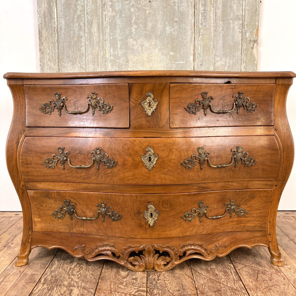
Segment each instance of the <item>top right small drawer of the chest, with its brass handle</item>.
[[275,84],[170,85],[170,127],[271,126]]

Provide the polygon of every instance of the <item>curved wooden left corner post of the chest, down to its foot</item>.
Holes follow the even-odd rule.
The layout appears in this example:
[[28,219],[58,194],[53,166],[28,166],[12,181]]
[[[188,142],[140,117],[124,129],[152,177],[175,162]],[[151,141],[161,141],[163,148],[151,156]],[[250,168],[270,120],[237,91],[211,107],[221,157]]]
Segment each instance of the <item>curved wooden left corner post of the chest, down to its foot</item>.
[[23,79],[8,79],[13,96],[13,118],[6,142],[6,164],[12,183],[19,196],[23,210],[23,238],[16,266],[26,265],[31,252],[32,214],[30,200],[20,174],[19,154],[26,137],[25,94]]

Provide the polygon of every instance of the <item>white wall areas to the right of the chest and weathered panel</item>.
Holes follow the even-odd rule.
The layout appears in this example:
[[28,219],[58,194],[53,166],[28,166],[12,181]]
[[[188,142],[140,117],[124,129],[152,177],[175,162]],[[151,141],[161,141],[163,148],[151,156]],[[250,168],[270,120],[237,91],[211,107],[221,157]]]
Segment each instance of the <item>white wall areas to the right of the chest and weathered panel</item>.
[[[296,1],[262,0],[259,21],[258,71],[296,73]],[[287,112],[296,140],[296,79],[287,99]],[[279,210],[296,210],[296,165],[281,197]]]

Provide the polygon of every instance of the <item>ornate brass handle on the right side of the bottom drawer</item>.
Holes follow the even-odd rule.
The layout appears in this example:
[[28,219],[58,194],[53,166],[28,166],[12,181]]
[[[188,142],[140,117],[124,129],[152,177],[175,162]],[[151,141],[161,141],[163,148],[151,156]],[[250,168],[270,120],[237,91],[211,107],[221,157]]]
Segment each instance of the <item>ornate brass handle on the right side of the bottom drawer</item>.
[[203,216],[209,218],[209,219],[220,219],[222,217],[225,217],[227,212],[229,213],[229,217],[232,217],[232,214],[236,214],[238,217],[247,215],[248,212],[241,208],[239,204],[235,205],[235,201],[230,199],[230,202],[225,203],[225,212],[221,216],[208,216],[207,214],[207,208],[209,208],[209,205],[203,205],[203,201],[198,201],[198,209],[192,208],[191,212],[186,212],[182,217],[186,222],[192,222],[192,220],[195,219],[195,217],[198,215],[199,222],[202,222]]

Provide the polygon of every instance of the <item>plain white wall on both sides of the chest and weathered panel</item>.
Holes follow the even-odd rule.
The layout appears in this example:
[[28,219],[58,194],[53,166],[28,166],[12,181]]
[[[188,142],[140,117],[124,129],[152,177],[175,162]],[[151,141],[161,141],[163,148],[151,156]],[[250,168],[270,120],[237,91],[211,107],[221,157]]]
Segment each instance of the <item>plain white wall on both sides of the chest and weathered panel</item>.
[[[5,166],[5,142],[12,118],[12,98],[1,76],[39,72],[37,0],[0,0],[0,211],[21,206]],[[259,71],[296,72],[296,1],[262,0],[259,24]],[[288,117],[296,138],[296,81],[288,96]],[[296,166],[284,190],[281,210],[296,210]]]

